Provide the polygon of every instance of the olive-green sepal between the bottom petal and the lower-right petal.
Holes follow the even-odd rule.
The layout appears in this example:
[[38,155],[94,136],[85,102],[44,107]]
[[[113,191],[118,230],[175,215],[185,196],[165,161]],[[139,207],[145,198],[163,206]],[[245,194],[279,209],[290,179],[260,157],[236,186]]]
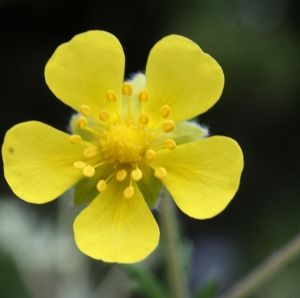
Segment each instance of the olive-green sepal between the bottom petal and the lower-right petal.
[[162,183],[154,176],[153,169],[147,164],[140,164],[139,169],[143,173],[143,178],[136,183],[148,206],[153,208],[158,200]]

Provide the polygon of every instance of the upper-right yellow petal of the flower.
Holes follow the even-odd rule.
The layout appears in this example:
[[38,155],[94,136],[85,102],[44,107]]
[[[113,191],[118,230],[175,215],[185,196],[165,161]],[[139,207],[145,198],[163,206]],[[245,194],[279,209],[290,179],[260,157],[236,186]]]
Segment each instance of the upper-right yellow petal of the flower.
[[144,111],[150,126],[160,119],[164,105],[170,107],[169,117],[175,122],[204,113],[218,101],[224,86],[219,64],[193,41],[178,35],[167,36],[153,47],[146,78],[149,101]]

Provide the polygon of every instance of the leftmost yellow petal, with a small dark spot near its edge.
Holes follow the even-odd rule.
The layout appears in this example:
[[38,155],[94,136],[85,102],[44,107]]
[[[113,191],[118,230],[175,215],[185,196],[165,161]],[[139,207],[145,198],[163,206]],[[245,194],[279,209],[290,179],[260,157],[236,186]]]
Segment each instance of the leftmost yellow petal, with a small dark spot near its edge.
[[30,203],[56,199],[82,176],[73,166],[86,144],[70,143],[70,136],[46,124],[15,125],[2,146],[5,178],[13,192]]

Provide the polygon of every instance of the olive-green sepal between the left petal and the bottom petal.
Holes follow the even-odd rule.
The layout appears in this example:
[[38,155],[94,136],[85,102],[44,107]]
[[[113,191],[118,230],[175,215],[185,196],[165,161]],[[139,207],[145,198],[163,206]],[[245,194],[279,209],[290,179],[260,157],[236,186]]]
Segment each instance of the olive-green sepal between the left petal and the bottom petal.
[[107,164],[98,169],[93,177],[81,178],[74,186],[73,205],[79,206],[93,201],[99,195],[96,187],[98,181],[107,179],[113,171],[112,166]]

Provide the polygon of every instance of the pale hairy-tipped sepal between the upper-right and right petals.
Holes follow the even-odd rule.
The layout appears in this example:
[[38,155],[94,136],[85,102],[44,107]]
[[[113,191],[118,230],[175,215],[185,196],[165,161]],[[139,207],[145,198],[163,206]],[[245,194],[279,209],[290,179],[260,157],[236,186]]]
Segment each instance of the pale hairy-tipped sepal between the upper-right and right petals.
[[154,147],[164,144],[166,139],[173,139],[176,145],[186,144],[201,140],[208,136],[208,129],[196,122],[181,122],[176,124],[172,132],[161,132],[153,141]]

